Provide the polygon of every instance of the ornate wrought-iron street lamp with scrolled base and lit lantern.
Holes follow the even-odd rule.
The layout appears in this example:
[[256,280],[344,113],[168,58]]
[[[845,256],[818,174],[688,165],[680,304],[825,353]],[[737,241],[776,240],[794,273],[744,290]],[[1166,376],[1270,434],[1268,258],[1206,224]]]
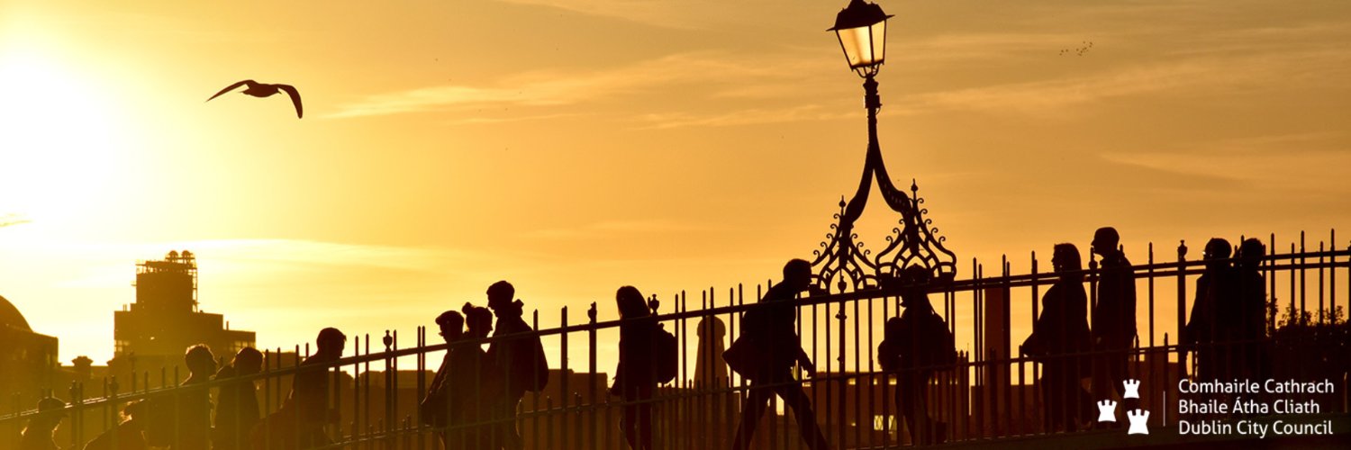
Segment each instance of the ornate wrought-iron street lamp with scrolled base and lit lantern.
[[[812,266],[816,270],[815,284],[817,289],[844,292],[848,289],[875,289],[888,288],[908,282],[901,280],[901,269],[921,266],[928,269],[934,280],[952,280],[957,276],[957,255],[943,247],[944,238],[935,238],[938,228],[931,227],[932,220],[924,219],[928,209],[923,208],[924,199],[919,197],[919,186],[911,181],[911,192],[896,189],[892,178],[886,174],[886,164],[882,161],[882,149],[877,143],[877,111],[882,108],[882,100],[877,95],[877,76],[886,58],[886,19],[892,18],[882,12],[882,7],[863,0],[851,0],[848,7],[835,16],[835,31],[844,50],[844,59],[850,69],[863,77],[863,105],[867,108],[867,157],[863,162],[863,177],[859,180],[858,191],[848,201],[840,199],[839,219],[832,224],[832,231],[827,234],[825,242],[820,243]],[[886,238],[886,247],[877,255],[871,250],[865,250],[863,243],[855,242],[858,234],[854,232],[854,222],[863,214],[867,205],[867,195],[871,191],[873,180],[882,191],[882,200],[892,211],[901,215],[897,227],[892,228],[893,235]],[[870,258],[871,257],[871,258]]]

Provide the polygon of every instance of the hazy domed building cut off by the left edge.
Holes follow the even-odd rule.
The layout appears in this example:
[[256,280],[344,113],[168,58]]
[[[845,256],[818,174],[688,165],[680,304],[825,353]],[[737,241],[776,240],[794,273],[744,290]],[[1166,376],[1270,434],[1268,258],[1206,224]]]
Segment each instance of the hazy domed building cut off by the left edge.
[[42,389],[54,388],[58,365],[57,338],[34,332],[19,308],[0,297],[0,393],[5,400],[22,393],[22,404],[35,404]]

